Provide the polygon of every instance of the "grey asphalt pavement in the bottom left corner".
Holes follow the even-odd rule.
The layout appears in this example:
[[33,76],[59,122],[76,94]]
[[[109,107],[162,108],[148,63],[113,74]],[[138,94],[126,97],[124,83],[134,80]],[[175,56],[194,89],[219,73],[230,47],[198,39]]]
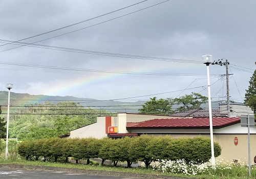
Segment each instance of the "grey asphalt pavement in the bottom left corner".
[[85,173],[73,173],[63,171],[50,171],[50,170],[26,170],[26,169],[6,169],[0,168],[1,179],[136,179],[138,177],[129,176],[112,176],[112,175],[94,175]]

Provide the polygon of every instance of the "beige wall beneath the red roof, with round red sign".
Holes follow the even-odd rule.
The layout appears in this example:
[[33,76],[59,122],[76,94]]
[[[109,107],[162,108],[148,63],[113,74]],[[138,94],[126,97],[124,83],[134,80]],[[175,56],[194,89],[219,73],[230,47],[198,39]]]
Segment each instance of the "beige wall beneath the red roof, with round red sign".
[[[181,137],[207,137],[210,138],[209,129],[133,129],[129,132],[132,133],[147,133],[151,136],[164,136],[170,135],[178,139]],[[230,134],[233,133],[233,134]],[[238,145],[234,145],[234,138],[238,138]],[[251,163],[254,156],[256,156],[256,127],[250,128],[250,150],[251,150]],[[240,160],[241,162],[248,163],[248,135],[247,127],[241,127],[240,124],[224,127],[221,129],[214,129],[214,142],[221,145],[222,152],[217,159],[233,162],[233,159]]]

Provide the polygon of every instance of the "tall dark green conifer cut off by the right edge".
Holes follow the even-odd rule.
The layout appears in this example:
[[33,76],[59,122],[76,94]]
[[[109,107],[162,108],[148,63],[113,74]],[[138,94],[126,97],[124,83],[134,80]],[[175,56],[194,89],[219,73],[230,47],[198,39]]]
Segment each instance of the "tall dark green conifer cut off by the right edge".
[[244,102],[252,110],[256,110],[256,70],[252,74],[252,77],[249,81],[249,86],[248,89],[246,89]]

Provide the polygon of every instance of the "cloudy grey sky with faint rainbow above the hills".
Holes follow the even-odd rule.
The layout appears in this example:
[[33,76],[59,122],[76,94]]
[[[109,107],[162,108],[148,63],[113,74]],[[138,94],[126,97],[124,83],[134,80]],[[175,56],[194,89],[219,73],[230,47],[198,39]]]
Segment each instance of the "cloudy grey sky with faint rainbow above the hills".
[[[0,0],[0,91],[138,101],[208,95],[202,56],[228,61],[243,102],[256,65],[256,1]],[[213,101],[226,66],[209,65]],[[231,75],[232,74],[232,75]]]

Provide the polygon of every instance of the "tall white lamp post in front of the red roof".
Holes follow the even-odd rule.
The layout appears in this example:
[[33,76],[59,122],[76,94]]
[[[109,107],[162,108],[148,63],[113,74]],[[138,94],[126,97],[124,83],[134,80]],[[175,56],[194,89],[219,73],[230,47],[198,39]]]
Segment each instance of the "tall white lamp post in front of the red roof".
[[203,55],[203,63],[206,64],[207,68],[207,81],[208,81],[208,103],[209,103],[209,120],[210,120],[210,146],[211,146],[211,165],[215,166],[215,156],[214,156],[214,132],[212,129],[212,116],[211,116],[211,99],[210,99],[210,74],[209,74],[209,64],[212,62],[211,55]]

